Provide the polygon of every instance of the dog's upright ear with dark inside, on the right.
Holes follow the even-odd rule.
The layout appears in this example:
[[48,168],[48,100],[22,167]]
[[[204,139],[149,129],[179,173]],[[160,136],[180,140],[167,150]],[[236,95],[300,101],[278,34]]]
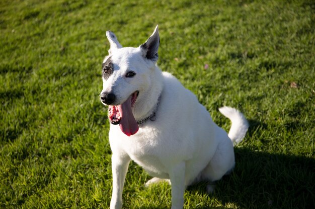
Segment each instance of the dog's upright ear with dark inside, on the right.
[[159,36],[159,28],[155,27],[153,34],[146,40],[144,44],[140,46],[143,51],[143,56],[153,62],[156,62],[159,59],[159,55],[157,51],[160,46],[160,36]]

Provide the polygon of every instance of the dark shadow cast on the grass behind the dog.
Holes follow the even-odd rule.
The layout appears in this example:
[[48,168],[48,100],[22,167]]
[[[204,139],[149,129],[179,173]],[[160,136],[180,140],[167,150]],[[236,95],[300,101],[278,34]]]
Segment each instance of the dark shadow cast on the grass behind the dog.
[[[315,160],[307,157],[253,152],[235,148],[237,165],[216,182],[211,198],[222,205],[244,208],[313,208],[315,205]],[[206,192],[206,183],[188,192]],[[211,208],[211,207],[196,207]]]

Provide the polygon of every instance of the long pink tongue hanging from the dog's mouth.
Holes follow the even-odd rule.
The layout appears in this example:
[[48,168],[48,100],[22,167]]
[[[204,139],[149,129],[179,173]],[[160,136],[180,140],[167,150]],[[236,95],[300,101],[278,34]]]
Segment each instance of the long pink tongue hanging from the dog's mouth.
[[131,110],[132,95],[123,104],[117,106],[120,114],[119,127],[127,136],[131,136],[138,132],[139,126],[134,118]]

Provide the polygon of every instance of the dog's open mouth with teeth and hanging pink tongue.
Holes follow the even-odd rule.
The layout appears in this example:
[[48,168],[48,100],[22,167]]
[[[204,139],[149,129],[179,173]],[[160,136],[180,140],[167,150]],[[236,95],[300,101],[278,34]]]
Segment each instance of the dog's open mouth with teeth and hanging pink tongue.
[[131,136],[138,132],[139,126],[132,114],[132,106],[134,105],[139,92],[131,94],[128,99],[121,105],[108,107],[108,118],[111,124],[117,125],[121,131],[127,136]]

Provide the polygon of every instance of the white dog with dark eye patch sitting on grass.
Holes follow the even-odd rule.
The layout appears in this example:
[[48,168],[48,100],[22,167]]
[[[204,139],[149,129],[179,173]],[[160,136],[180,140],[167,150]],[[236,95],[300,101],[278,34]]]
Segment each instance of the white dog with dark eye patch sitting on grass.
[[234,167],[233,142],[244,138],[248,122],[238,110],[220,108],[232,122],[227,135],[192,92],[157,67],[157,26],[138,48],[123,48],[111,31],[106,36],[110,50],[103,62],[101,101],[109,106],[111,122],[110,208],[122,207],[130,160],[154,176],[146,185],[170,181],[172,209],[183,208],[188,185],[218,180]]

